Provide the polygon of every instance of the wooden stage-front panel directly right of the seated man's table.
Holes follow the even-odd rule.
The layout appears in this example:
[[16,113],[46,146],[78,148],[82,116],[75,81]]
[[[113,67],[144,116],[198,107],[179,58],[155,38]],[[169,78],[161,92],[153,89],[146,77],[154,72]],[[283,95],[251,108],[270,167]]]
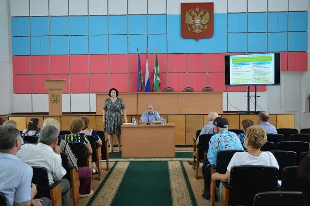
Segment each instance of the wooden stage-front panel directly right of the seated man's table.
[[185,145],[185,115],[168,115],[167,122],[175,124],[175,145]]

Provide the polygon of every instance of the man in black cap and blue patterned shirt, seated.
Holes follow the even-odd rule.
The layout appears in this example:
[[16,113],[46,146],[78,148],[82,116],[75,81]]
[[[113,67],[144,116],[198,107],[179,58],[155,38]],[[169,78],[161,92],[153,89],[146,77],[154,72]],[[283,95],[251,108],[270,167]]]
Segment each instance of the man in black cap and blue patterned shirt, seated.
[[[234,132],[228,131],[228,120],[226,118],[215,118],[213,121],[213,135],[209,142],[208,161],[202,166],[202,175],[204,179],[204,190],[202,197],[210,200],[210,164],[217,165],[217,152],[229,149],[243,150],[241,142]],[[215,197],[217,202],[217,195]]]

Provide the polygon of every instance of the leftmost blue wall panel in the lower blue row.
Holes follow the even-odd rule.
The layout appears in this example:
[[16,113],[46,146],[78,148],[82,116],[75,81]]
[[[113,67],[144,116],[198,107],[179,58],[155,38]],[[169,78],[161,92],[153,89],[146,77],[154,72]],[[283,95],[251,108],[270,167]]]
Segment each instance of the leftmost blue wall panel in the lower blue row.
[[12,37],[12,55],[30,55],[30,37]]

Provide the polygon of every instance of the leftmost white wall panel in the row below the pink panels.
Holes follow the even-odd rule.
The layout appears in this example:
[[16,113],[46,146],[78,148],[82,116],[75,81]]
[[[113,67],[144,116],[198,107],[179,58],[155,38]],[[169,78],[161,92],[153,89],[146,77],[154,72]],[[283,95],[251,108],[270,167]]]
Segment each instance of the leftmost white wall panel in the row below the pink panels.
[[31,94],[13,94],[13,112],[32,112]]

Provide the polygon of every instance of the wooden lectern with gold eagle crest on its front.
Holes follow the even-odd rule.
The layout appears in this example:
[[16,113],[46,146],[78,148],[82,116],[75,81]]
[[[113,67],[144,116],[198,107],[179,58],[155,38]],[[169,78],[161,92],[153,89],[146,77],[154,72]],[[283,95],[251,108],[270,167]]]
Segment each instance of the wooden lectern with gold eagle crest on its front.
[[66,88],[65,79],[45,79],[44,87],[48,89],[48,115],[62,115],[62,89]]

